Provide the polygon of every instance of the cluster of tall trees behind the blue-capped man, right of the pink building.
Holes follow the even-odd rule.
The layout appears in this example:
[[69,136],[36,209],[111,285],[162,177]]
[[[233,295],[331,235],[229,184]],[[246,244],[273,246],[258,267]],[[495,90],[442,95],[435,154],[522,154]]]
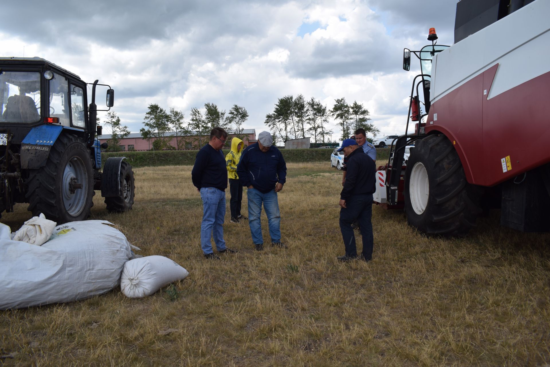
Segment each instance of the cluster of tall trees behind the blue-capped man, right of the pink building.
[[356,129],[363,128],[365,132],[376,136],[380,133],[368,121],[370,113],[361,103],[354,101],[349,105],[345,98],[334,100],[332,109],[323,106],[320,100],[311,97],[305,100],[304,95],[292,95],[278,98],[273,113],[266,114],[265,124],[270,128],[274,140],[283,143],[290,139],[305,138],[311,134],[313,143],[330,143],[332,130],[327,128],[329,118],[337,120],[342,136],[340,140],[348,139]]

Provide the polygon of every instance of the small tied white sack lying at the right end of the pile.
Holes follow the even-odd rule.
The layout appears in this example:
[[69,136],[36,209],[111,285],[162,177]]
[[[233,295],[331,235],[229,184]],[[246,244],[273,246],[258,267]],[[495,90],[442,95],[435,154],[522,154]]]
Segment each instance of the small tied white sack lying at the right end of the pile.
[[147,297],[166,284],[185,279],[189,272],[164,256],[145,256],[124,264],[120,290],[130,298]]

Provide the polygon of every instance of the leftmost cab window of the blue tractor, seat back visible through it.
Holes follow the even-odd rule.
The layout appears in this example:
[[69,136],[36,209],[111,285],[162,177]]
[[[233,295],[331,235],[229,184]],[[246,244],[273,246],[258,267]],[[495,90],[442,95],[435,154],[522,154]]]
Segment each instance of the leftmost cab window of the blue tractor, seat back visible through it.
[[40,73],[0,72],[0,120],[40,120]]

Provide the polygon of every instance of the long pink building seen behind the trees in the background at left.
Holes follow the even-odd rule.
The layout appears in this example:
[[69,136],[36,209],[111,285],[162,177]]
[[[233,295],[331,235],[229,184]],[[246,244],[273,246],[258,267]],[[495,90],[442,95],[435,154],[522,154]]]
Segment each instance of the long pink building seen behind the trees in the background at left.
[[[237,130],[228,130],[229,134],[228,143],[226,144],[228,147],[230,147],[230,141],[233,136],[237,134]],[[244,144],[250,145],[253,143],[256,143],[256,129],[243,129],[243,133],[239,135],[244,135],[245,138]],[[170,145],[172,145],[174,148],[177,147],[176,139],[180,139],[180,150],[185,149],[197,149],[198,148],[198,141],[199,136],[198,135],[189,135],[189,136],[175,136],[174,132],[168,132],[166,133],[166,137],[168,139],[169,136],[172,136],[172,139],[169,141]],[[105,143],[108,139],[111,139],[111,134],[103,134],[101,136],[98,136],[98,139],[100,140],[100,143]],[[153,147],[153,141],[155,141],[156,138],[153,138],[149,141],[145,140],[141,137],[140,133],[131,133],[127,136],[127,138],[124,138],[120,140],[120,149],[121,150],[151,150]],[[208,135],[202,136],[202,145],[205,145],[208,143]]]

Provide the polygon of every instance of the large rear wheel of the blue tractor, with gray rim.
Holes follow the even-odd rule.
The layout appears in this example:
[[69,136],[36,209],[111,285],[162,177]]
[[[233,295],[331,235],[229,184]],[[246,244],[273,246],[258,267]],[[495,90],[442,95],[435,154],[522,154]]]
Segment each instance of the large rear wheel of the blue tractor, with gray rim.
[[94,205],[90,153],[74,135],[59,135],[46,164],[31,169],[26,184],[32,215],[44,213],[58,224],[85,220]]

